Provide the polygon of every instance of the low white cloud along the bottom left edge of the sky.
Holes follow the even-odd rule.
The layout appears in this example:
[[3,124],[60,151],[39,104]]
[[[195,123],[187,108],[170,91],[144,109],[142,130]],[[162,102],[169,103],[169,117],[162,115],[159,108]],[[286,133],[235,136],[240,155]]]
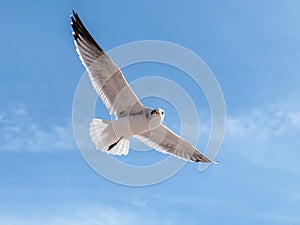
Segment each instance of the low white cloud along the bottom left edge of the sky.
[[[125,208],[114,209],[109,206],[81,205],[80,207],[67,207],[51,213],[28,215],[1,215],[0,224],[13,225],[155,225],[167,224],[164,220],[150,217],[148,213],[142,215]],[[176,224],[176,223],[172,223]]]

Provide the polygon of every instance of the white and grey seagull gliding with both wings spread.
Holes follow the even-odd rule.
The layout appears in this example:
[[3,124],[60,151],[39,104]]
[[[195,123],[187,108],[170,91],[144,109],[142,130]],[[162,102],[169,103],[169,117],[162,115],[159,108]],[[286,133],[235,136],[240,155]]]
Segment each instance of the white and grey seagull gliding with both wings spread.
[[111,155],[127,155],[130,138],[191,162],[216,163],[163,124],[165,112],[146,108],[128,85],[118,66],[97,44],[78,14],[71,15],[72,35],[79,58],[92,86],[115,120],[93,119],[90,137],[96,149]]

